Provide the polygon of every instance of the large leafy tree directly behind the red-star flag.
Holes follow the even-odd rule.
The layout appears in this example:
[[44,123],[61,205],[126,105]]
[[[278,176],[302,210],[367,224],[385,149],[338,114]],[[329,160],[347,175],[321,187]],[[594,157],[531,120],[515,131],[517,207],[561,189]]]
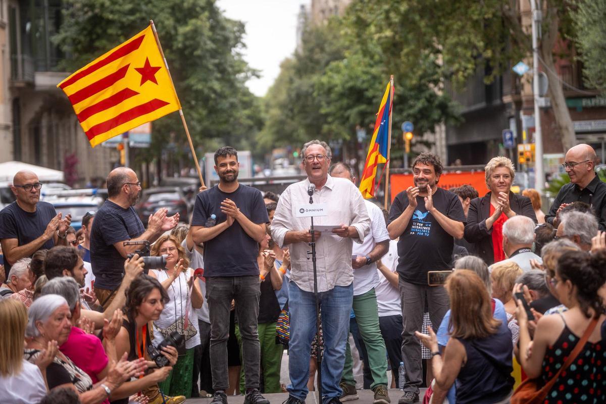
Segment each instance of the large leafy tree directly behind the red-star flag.
[[[245,82],[257,73],[242,58],[244,24],[225,18],[215,0],[65,0],[64,6],[53,40],[70,55],[65,70],[84,66],[153,19],[195,147],[250,147],[246,139],[261,128],[262,113]],[[176,113],[153,123],[152,147],[141,153],[160,156],[172,143],[177,158],[190,158]]]

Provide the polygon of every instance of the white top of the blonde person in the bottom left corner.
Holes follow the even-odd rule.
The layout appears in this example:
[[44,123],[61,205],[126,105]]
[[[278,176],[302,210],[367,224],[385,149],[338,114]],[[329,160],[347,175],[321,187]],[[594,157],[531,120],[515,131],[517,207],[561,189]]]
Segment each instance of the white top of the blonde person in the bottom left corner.
[[39,403],[46,396],[46,385],[38,366],[23,360],[21,373],[0,376],[0,402],[13,404]]

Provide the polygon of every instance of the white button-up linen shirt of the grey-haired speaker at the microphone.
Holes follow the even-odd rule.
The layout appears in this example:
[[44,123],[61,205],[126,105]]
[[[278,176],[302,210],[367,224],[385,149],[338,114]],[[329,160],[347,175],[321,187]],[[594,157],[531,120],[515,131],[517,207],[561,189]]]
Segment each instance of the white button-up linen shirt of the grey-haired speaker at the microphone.
[[[308,179],[291,184],[280,196],[278,207],[271,222],[271,237],[281,248],[290,250],[290,280],[304,291],[313,292],[313,263],[311,246],[297,242],[284,245],[288,231],[309,230],[311,217],[296,217],[295,208],[308,205]],[[353,226],[358,237],[341,237],[322,233],[316,240],[316,268],[318,292],[332,290],[335,286],[348,286],[353,282],[351,247],[353,242],[362,243],[370,228],[370,217],[362,194],[350,180],[328,176],[326,184],[313,193],[314,204],[326,204],[328,215],[313,218],[314,225],[339,227]],[[310,254],[307,254],[310,251]]]

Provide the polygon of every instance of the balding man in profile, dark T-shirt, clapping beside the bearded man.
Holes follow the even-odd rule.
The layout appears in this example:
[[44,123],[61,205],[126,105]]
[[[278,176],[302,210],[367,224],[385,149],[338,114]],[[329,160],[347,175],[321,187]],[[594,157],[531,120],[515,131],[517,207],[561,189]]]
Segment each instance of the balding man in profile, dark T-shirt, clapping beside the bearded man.
[[95,274],[95,294],[103,308],[112,302],[122,282],[122,267],[139,245],[124,242],[154,242],[179,222],[179,214],[167,217],[162,208],[150,215],[147,230],[133,206],[139,200],[141,182],[135,171],[118,167],[107,176],[108,198],[95,215],[90,240],[90,264]]

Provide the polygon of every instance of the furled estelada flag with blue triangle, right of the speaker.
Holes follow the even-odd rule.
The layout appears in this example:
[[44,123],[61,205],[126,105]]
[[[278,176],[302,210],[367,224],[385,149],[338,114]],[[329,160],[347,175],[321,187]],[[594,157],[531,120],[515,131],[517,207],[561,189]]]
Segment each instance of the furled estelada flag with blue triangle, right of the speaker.
[[360,180],[360,192],[367,199],[375,196],[375,177],[377,173],[377,165],[387,162],[387,154],[389,151],[389,122],[391,115],[391,104],[393,103],[393,86],[391,81],[387,83],[385,94],[379,105],[379,112],[375,121],[375,129],[373,137],[370,139],[368,154],[364,170],[362,170],[362,179]]

